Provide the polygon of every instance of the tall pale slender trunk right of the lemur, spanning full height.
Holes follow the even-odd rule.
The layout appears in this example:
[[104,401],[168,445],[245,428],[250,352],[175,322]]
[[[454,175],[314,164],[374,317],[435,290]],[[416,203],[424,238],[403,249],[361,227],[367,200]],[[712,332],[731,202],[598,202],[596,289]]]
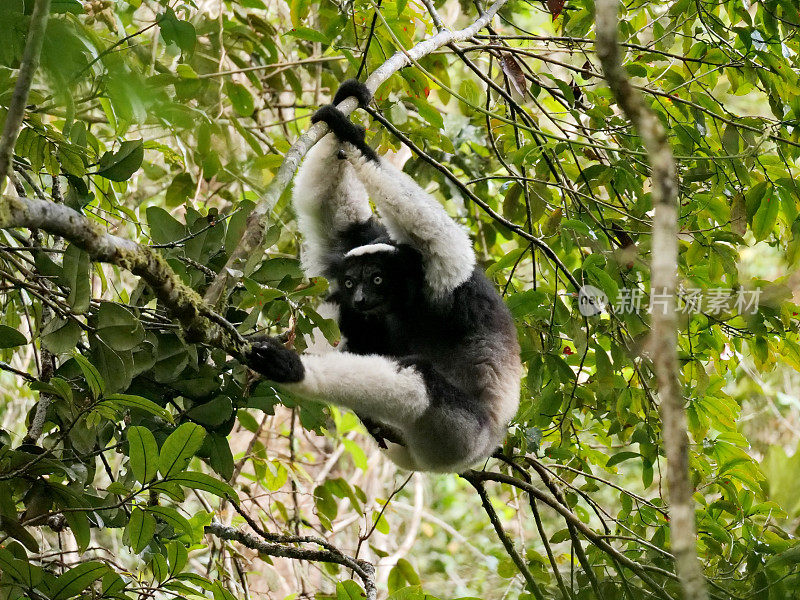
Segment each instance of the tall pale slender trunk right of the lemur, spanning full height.
[[697,547],[692,484],[689,479],[689,439],[678,370],[678,320],[675,312],[678,272],[678,176],[666,132],[631,85],[620,60],[617,42],[618,0],[596,0],[597,55],[608,85],[625,115],[639,132],[652,169],[653,263],[650,289],[666,301],[654,310],[651,339],[653,366],[658,380],[667,484],[670,531],[675,568],[686,600],[705,600],[705,581]]

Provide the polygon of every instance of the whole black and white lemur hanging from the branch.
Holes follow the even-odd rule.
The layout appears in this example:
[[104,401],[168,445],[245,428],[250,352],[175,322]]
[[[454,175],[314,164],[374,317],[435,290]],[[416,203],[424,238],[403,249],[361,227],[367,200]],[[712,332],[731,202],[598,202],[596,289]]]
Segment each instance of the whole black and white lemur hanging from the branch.
[[342,342],[299,356],[261,339],[249,362],[300,396],[355,411],[379,442],[392,440],[381,445],[399,466],[459,472],[492,454],[516,413],[514,322],[467,233],[334,106],[349,96],[364,107],[371,94],[349,80],[314,114],[331,133],[294,184],[303,268],[331,282]]

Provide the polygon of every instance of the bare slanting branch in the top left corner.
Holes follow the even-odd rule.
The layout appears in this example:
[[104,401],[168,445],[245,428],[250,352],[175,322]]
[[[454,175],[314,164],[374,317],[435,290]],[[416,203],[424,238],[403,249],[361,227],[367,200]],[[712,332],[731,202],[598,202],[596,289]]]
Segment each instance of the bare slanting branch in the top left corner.
[[19,76],[8,106],[6,122],[3,126],[3,135],[0,137],[0,192],[6,183],[6,177],[11,169],[11,155],[22,128],[22,119],[25,116],[25,106],[28,103],[28,93],[31,91],[33,75],[39,66],[39,55],[42,53],[44,33],[47,29],[47,18],[50,16],[50,0],[36,0],[31,15],[31,25],[28,29],[28,39],[22,53],[22,62],[19,66]]

